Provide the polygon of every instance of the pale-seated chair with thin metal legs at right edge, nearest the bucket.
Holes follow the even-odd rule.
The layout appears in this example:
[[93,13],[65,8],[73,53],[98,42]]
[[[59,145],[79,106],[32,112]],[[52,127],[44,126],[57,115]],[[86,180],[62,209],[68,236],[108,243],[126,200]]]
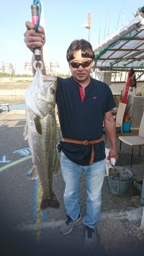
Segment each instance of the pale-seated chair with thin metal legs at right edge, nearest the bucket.
[[140,129],[139,129],[138,136],[119,136],[119,138],[120,138],[120,154],[122,149],[122,142],[131,146],[130,167],[132,167],[132,157],[133,157],[134,146],[139,146],[139,155],[140,155],[141,146],[144,145],[144,112],[140,122]]

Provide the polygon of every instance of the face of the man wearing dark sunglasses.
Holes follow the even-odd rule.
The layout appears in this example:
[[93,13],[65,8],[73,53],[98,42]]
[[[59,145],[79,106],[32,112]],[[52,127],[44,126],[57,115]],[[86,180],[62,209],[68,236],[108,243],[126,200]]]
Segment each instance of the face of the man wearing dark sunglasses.
[[[71,74],[73,76],[73,79],[75,79],[76,81],[78,81],[78,83],[81,84],[85,82],[87,79],[89,79],[93,61],[91,60],[91,58],[83,58],[81,56],[81,50],[75,51],[73,57],[73,60],[69,63]],[[73,64],[75,66],[75,63],[83,63],[86,67],[80,65],[79,67],[75,68],[73,67]]]

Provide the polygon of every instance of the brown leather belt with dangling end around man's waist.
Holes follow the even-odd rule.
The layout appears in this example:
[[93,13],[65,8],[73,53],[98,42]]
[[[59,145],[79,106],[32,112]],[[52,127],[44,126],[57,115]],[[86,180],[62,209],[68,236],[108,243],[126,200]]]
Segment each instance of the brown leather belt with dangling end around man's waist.
[[62,138],[62,141],[69,142],[69,143],[74,143],[74,144],[81,144],[81,145],[84,145],[84,146],[91,145],[92,146],[91,159],[89,161],[89,165],[91,165],[94,162],[94,146],[93,146],[93,144],[99,143],[100,141],[102,141],[102,138],[98,138],[97,140],[94,140],[94,141],[77,141],[77,140],[73,140],[71,138]]

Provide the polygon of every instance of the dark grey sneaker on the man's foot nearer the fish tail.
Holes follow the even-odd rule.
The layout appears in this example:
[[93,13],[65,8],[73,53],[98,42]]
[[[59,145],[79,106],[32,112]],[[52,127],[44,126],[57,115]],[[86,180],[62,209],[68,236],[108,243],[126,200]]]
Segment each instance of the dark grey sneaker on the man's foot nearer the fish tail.
[[78,215],[78,219],[74,220],[71,219],[70,216],[66,215],[66,219],[63,221],[63,224],[60,226],[60,232],[62,234],[68,234],[72,231],[73,226],[76,224],[76,222],[80,221],[81,219],[81,213]]

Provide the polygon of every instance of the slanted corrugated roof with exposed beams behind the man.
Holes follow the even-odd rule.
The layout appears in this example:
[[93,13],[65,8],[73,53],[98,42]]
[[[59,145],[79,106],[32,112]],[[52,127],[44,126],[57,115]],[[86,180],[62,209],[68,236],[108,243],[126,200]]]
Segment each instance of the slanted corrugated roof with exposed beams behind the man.
[[144,69],[144,7],[94,49],[94,69]]

